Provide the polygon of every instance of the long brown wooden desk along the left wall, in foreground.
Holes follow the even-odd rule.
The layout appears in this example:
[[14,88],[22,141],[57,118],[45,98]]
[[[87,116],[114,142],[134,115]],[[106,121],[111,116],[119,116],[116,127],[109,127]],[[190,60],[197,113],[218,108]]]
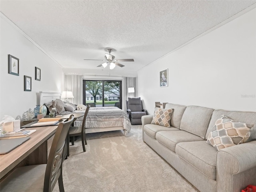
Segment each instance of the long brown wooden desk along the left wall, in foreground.
[[55,134],[57,127],[26,128],[25,130],[36,130],[36,132],[30,135],[29,140],[14,150],[0,155],[0,180],[16,167],[46,164],[48,159],[48,140]]

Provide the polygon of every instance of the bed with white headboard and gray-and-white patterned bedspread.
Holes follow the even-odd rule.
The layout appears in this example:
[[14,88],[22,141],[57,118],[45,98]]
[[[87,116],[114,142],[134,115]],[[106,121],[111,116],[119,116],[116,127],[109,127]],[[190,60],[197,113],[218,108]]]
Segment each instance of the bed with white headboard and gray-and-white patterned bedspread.
[[[61,99],[60,93],[39,92],[40,106],[56,99]],[[75,110],[74,112],[64,111],[61,114],[84,114],[84,112],[85,110]],[[82,120],[83,117],[77,118],[74,122],[74,126],[82,126]],[[126,132],[130,132],[131,126],[126,112],[118,107],[92,107],[86,118],[86,133],[123,130],[124,135],[126,135]]]

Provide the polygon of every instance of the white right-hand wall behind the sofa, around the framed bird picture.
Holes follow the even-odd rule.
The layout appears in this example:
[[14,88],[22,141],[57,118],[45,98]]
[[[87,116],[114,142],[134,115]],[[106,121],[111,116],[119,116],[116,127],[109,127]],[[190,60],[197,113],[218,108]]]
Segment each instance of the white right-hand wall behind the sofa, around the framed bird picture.
[[256,111],[256,8],[139,70],[138,96],[150,114],[155,101]]

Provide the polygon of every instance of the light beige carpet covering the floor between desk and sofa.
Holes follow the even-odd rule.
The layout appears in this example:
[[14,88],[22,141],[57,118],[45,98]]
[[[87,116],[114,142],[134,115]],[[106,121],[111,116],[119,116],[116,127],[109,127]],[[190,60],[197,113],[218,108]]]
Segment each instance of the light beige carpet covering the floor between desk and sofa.
[[126,136],[87,134],[86,152],[78,138],[63,162],[63,182],[66,192],[198,192],[142,141],[141,126]]

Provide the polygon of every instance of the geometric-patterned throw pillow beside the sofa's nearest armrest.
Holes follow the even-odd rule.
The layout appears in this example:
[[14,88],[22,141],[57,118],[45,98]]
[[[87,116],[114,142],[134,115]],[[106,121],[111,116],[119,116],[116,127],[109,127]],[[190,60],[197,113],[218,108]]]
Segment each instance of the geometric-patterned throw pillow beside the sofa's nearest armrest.
[[250,128],[253,126],[254,124],[238,122],[222,115],[216,120],[206,142],[216,150],[245,143],[250,137]]

